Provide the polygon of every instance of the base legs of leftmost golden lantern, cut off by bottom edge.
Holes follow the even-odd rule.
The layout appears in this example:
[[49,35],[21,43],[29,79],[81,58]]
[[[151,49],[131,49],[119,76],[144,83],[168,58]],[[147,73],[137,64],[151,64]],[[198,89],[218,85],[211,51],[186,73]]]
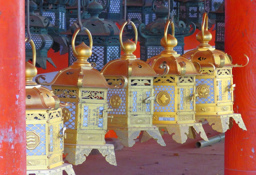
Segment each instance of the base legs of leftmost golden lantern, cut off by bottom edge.
[[36,174],[36,175],[62,175],[62,171],[65,170],[65,172],[68,175],[75,175],[75,172],[73,170],[73,167],[71,164],[64,163],[61,166],[57,166],[55,168],[47,169],[47,170],[27,170],[28,174]]

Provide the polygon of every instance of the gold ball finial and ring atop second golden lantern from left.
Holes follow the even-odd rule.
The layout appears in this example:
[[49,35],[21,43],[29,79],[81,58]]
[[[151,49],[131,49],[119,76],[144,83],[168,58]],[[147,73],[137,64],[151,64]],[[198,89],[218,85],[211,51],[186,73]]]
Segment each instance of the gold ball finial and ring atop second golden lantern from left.
[[84,27],[84,30],[89,36],[90,47],[88,47],[84,42],[75,47],[75,39],[80,31],[80,28],[77,28],[71,41],[73,53],[74,56],[77,57],[77,61],[75,61],[72,66],[84,66],[92,68],[92,65],[87,61],[87,59],[92,55],[92,35],[87,28]]

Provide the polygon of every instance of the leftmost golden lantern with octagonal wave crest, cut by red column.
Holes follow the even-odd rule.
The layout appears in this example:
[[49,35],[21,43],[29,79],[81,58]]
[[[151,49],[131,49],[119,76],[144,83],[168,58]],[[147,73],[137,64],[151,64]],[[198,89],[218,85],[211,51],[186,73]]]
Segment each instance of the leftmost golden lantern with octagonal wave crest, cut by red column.
[[[28,39],[26,38],[26,41]],[[26,62],[26,153],[27,174],[57,175],[65,170],[68,175],[75,174],[72,165],[64,163],[65,127],[63,127],[62,108],[59,98],[32,78],[36,76],[36,49],[31,40],[33,62]]]

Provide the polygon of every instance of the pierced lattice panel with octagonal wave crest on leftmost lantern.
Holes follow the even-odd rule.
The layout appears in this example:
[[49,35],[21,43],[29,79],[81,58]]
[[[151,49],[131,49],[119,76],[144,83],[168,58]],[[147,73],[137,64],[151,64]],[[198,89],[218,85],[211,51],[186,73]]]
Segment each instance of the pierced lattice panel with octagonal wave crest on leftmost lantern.
[[27,149],[27,155],[46,155],[46,128],[45,124],[36,124],[36,125],[26,125],[26,132],[33,131],[35,135],[39,136],[40,142],[36,143],[34,135],[26,136],[27,146],[28,145],[37,145],[34,149]]

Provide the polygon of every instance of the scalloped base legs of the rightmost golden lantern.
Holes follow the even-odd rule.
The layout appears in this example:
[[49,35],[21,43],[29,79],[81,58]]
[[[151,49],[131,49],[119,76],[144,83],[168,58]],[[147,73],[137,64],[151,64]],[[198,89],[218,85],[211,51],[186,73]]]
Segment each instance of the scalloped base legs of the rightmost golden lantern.
[[247,130],[243,119],[241,117],[241,114],[233,113],[233,114],[227,114],[227,115],[211,115],[211,116],[196,116],[196,120],[199,121],[203,118],[206,118],[209,125],[212,126],[212,129],[218,131],[218,132],[226,132],[228,129],[231,129],[233,126],[233,119],[238,124],[240,128],[243,130]]

